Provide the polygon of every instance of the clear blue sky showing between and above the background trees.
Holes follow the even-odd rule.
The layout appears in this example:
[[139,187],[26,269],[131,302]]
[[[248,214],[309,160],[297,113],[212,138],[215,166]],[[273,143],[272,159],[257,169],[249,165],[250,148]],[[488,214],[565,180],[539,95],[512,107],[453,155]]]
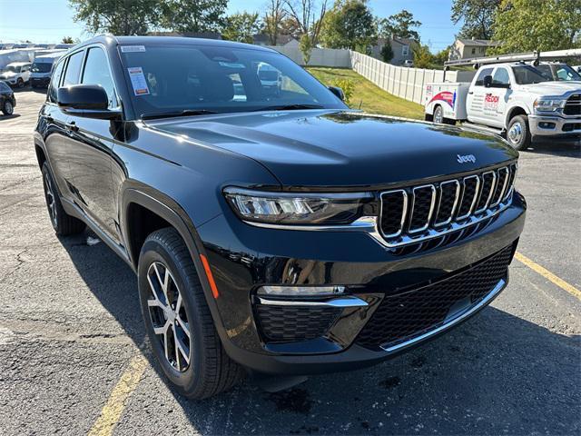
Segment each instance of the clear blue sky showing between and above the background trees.
[[[230,0],[229,12],[261,11],[266,0]],[[421,21],[422,41],[432,51],[454,41],[459,26],[450,21],[451,0],[371,0],[373,13],[389,16],[408,9]],[[37,43],[60,42],[63,36],[84,39],[82,24],[74,23],[67,0],[0,0],[0,42],[29,39]]]

